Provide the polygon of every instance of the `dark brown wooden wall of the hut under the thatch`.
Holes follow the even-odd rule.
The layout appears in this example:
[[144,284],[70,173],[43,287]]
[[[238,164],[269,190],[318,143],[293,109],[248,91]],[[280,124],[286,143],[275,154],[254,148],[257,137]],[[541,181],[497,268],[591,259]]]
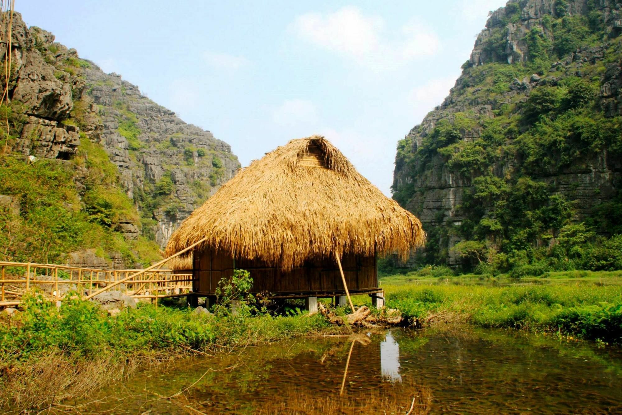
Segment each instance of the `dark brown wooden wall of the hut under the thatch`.
[[[310,260],[302,267],[284,271],[269,267],[258,260],[236,260],[215,250],[195,251],[193,259],[193,291],[213,294],[223,277],[233,275],[233,269],[248,270],[253,277],[253,292],[278,295],[338,295],[343,294],[343,282],[333,258]],[[370,292],[378,288],[375,257],[344,255],[341,259],[348,290],[352,293]]]

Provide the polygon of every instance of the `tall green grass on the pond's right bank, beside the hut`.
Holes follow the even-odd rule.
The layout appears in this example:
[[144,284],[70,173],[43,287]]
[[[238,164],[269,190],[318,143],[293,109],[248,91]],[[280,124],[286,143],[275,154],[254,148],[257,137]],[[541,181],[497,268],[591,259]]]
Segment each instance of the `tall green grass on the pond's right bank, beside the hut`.
[[596,285],[387,286],[387,304],[411,323],[451,316],[480,327],[562,332],[622,343],[622,287]]

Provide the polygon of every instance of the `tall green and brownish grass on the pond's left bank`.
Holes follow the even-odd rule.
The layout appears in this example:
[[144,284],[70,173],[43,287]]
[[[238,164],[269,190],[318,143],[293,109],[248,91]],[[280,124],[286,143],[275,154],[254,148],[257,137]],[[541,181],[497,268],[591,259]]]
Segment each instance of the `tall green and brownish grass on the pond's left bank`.
[[[216,353],[314,332],[330,332],[325,318],[215,315],[190,308],[140,303],[109,317],[93,302],[57,308],[27,297],[24,309],[0,321],[0,408],[55,406],[86,396],[111,378],[188,353]],[[192,352],[190,352],[192,353]]]

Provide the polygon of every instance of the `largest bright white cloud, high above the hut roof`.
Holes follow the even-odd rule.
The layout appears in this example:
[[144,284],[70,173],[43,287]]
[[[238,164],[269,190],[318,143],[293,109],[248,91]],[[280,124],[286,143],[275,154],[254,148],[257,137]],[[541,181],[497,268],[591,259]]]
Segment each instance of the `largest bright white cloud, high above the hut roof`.
[[374,70],[396,69],[414,59],[437,53],[439,39],[424,24],[412,20],[389,39],[384,20],[365,16],[358,7],[346,6],[328,13],[307,13],[289,25],[300,39],[353,59]]

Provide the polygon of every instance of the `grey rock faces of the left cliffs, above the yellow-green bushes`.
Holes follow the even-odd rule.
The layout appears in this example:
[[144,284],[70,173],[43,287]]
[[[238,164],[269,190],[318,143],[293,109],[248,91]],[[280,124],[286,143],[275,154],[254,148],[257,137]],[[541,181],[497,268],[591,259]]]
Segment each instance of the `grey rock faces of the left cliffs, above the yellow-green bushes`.
[[[7,20],[2,19],[5,31]],[[104,74],[49,32],[27,27],[19,13],[11,52],[14,151],[30,160],[70,163],[81,198],[93,180],[101,180],[90,176],[90,165],[113,172],[111,185],[123,190],[135,210],[104,222],[125,239],[145,236],[164,246],[179,223],[239,168],[230,146],[210,131],[183,122],[121,75]],[[73,162],[77,156],[85,163]],[[108,209],[105,200],[89,203],[83,201],[82,208],[90,214]]]

